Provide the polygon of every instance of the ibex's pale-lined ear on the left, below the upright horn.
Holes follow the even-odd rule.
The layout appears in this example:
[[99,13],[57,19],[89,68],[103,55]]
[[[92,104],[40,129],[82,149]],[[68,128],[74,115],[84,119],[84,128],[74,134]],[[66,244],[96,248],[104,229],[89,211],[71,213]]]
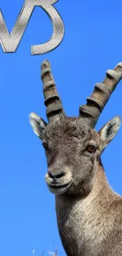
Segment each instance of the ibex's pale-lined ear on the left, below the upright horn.
[[36,113],[31,113],[29,116],[31,127],[33,128],[35,134],[43,140],[44,131],[46,128],[46,122],[39,117]]

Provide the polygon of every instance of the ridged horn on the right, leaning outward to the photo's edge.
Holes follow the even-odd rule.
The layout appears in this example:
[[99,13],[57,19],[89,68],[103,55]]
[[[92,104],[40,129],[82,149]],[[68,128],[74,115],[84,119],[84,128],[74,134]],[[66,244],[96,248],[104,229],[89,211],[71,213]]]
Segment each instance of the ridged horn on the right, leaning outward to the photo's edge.
[[91,97],[87,98],[87,104],[79,106],[79,117],[84,119],[85,124],[94,128],[102,109],[108,102],[110,95],[122,78],[122,62],[118,63],[115,69],[107,70],[105,80],[96,83]]

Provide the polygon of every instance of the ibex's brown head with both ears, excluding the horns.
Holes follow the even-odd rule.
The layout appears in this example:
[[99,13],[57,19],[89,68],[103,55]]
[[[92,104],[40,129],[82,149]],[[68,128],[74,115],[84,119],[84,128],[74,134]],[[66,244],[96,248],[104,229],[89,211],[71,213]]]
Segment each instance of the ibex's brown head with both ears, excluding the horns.
[[31,113],[31,125],[46,151],[46,184],[50,191],[57,195],[89,194],[99,157],[120,127],[120,118],[113,118],[100,132],[76,117],[63,117],[46,125]]

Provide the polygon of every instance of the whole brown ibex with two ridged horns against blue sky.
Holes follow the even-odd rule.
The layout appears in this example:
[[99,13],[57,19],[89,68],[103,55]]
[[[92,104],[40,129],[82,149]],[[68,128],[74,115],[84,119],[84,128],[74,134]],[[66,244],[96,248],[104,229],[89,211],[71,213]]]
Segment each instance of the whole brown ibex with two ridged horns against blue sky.
[[46,184],[55,194],[57,225],[68,256],[122,255],[122,197],[105,177],[101,154],[120,128],[114,117],[96,132],[94,126],[117,83],[122,62],[96,83],[79,117],[66,117],[50,62],[42,64],[46,124],[37,114],[30,121],[43,141],[48,171]]

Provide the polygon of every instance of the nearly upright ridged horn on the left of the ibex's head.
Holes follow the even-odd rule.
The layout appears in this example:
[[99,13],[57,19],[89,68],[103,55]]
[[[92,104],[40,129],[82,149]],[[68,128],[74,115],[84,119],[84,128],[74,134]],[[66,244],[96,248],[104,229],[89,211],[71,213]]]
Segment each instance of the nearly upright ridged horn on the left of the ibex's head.
[[49,122],[56,121],[65,116],[61,99],[57,93],[54,77],[51,72],[50,62],[45,60],[41,65],[41,78],[43,81],[43,95],[46,105],[46,117]]

